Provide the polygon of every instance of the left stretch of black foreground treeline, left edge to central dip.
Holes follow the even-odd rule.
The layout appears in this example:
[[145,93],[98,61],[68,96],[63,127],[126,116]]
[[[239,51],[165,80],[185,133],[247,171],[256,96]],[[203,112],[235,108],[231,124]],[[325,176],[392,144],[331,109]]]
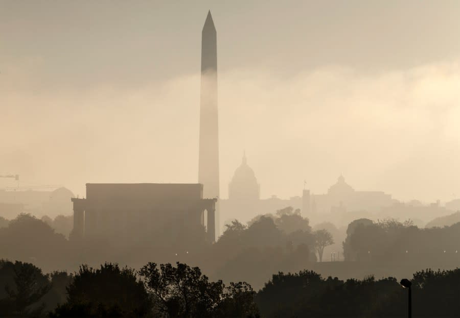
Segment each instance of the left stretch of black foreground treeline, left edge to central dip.
[[30,263],[0,261],[2,317],[259,317],[245,282],[210,281],[198,267],[148,263],[80,266],[44,275]]

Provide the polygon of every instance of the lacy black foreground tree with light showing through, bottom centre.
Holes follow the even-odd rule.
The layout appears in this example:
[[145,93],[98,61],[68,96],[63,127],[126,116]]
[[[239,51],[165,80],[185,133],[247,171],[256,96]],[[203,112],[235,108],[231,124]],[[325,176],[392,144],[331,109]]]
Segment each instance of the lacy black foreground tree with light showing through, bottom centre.
[[254,291],[247,283],[210,282],[198,267],[148,263],[140,275],[154,299],[155,317],[258,317]]

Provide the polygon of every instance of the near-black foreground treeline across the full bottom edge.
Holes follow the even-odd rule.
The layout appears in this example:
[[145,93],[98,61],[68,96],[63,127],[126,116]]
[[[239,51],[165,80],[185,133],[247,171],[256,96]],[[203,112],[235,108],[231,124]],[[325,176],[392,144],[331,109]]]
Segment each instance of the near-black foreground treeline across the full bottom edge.
[[[43,274],[0,262],[2,317],[405,317],[407,290],[395,278],[322,278],[278,273],[258,292],[245,282],[211,281],[198,267],[149,262],[139,271],[104,263]],[[460,269],[411,278],[414,317],[457,317]]]

